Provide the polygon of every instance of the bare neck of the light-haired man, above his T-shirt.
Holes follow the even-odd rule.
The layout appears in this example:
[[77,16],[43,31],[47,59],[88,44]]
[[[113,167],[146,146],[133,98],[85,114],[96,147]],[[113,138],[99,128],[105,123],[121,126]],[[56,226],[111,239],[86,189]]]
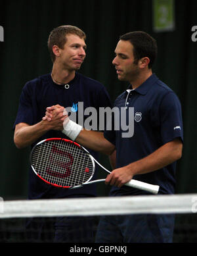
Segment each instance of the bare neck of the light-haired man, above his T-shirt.
[[75,70],[62,69],[55,64],[53,65],[53,69],[51,72],[53,82],[55,82],[56,84],[68,84],[71,80],[74,79],[75,75]]

